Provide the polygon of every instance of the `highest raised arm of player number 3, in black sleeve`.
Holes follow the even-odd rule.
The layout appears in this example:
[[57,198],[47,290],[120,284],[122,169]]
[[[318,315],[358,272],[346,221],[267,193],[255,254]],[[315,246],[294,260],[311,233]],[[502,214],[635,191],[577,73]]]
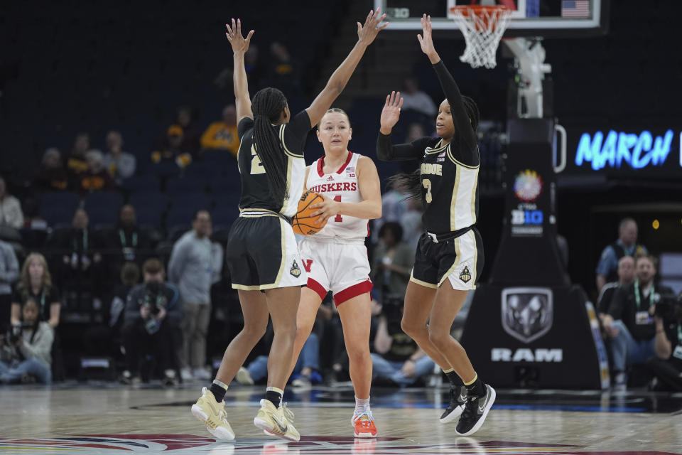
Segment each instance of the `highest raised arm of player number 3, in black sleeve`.
[[424,14],[421,18],[421,29],[423,36],[417,35],[421,51],[426,54],[428,60],[433,65],[435,74],[438,75],[440,87],[443,87],[445,98],[448,99],[448,104],[450,105],[450,114],[453,116],[455,130],[467,148],[474,150],[478,146],[478,139],[474,129],[471,127],[471,121],[469,114],[467,114],[467,109],[464,107],[460,88],[457,86],[448,68],[445,68],[443,60],[440,60],[440,55],[435,51],[433,38],[431,37],[431,16]]

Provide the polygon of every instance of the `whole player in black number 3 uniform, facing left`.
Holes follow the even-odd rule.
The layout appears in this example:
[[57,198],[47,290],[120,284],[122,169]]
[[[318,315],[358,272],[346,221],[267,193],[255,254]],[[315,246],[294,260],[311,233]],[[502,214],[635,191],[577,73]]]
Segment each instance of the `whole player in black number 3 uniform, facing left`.
[[[414,197],[421,196],[426,208],[426,232],[417,246],[401,326],[450,379],[450,406],[440,421],[460,416],[456,431],[468,436],[481,427],[495,400],[493,388],[478,378],[464,348],[450,336],[455,316],[469,290],[475,289],[483,266],[481,237],[475,228],[479,113],[475,102],[462,96],[435,51],[431,17],[424,15],[421,26],[421,50],[431,60],[446,98],[435,121],[438,137],[392,145],[391,129],[402,105],[400,92],[392,92],[381,112],[377,156],[384,161],[421,159],[416,173],[396,176]],[[465,384],[461,389],[458,376]]]

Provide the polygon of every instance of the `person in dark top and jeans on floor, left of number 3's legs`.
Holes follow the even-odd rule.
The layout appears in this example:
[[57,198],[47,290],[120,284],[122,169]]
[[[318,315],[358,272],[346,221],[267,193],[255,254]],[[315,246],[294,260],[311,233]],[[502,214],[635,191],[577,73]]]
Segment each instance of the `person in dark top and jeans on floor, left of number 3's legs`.
[[372,373],[404,387],[433,373],[434,363],[400,328],[402,299],[384,300],[374,337]]

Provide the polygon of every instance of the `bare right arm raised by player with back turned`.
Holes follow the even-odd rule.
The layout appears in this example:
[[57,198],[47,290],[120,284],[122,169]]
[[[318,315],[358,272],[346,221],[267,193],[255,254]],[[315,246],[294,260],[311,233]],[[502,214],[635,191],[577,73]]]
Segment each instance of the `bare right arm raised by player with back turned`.
[[308,112],[308,117],[310,117],[310,127],[314,127],[320,122],[322,116],[331,107],[332,102],[341,94],[348,80],[350,80],[350,76],[362,58],[364,50],[374,41],[374,38],[377,38],[379,31],[389,25],[386,22],[384,25],[379,26],[379,23],[386,17],[386,14],[380,16],[380,11],[381,9],[377,9],[375,13],[374,10],[370,10],[364,21],[364,26],[359,22],[357,23],[357,43],[355,43],[350,54],[343,60],[339,68],[332,73],[327,85],[320,92],[320,95],[315,98],[313,104],[308,109],[305,109],[305,112]]

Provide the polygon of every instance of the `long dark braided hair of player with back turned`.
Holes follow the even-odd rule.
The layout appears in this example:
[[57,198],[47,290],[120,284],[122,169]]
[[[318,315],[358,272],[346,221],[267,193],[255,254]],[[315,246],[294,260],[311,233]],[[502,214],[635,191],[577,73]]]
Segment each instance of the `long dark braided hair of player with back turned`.
[[286,97],[276,88],[267,87],[259,90],[251,101],[254,112],[254,147],[256,154],[265,168],[270,187],[270,197],[275,201],[288,197],[286,186],[286,154],[276,124],[286,107]]

